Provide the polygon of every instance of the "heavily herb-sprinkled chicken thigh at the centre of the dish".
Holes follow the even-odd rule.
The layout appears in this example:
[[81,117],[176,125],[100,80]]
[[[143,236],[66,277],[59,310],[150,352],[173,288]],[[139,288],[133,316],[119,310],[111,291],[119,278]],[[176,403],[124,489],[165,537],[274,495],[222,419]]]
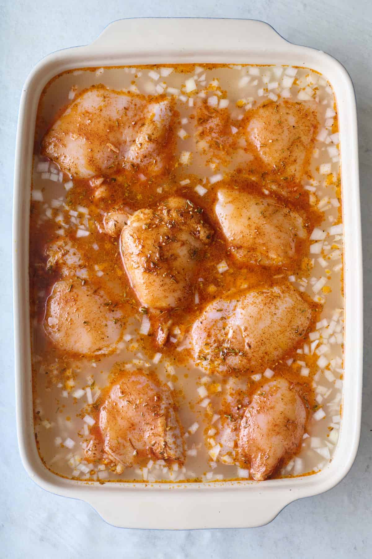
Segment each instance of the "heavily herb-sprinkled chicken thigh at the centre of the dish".
[[202,210],[185,198],[136,211],[122,230],[120,250],[141,305],[161,310],[184,305],[212,234]]

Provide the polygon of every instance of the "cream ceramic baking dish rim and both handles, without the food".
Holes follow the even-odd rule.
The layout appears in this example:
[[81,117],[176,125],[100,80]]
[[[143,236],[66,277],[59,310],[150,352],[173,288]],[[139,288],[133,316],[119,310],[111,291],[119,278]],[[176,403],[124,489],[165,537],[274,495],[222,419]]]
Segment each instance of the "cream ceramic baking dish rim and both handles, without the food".
[[[87,483],[56,476],[38,456],[32,419],[28,301],[28,216],[37,104],[45,84],[64,70],[127,64],[289,64],[322,73],[334,88],[340,126],[345,235],[345,381],[336,453],[316,475],[219,484]],[[18,442],[33,480],[58,495],[83,499],[109,523],[127,528],[254,527],[291,501],[334,487],[350,470],[360,433],[362,387],[362,259],[354,89],[346,70],[321,51],[292,45],[259,21],[121,20],[91,45],[57,51],[40,61],[23,87],[18,119],[13,264]]]

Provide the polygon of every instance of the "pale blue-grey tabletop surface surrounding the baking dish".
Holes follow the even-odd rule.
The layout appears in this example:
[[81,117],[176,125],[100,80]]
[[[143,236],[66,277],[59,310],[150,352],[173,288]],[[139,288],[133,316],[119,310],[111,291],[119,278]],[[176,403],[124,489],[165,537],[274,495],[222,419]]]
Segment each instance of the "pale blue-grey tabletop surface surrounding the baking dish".
[[[0,1],[0,556],[371,557],[372,380],[371,146],[372,3],[370,0],[42,0]],[[335,56],[354,81],[365,273],[365,368],[362,434],[349,475],[326,494],[289,505],[268,526],[162,532],[113,528],[89,505],[51,495],[21,465],[15,427],[11,287],[12,181],[20,92],[33,65],[51,51],[89,43],[122,17],[253,18],[291,42]]]

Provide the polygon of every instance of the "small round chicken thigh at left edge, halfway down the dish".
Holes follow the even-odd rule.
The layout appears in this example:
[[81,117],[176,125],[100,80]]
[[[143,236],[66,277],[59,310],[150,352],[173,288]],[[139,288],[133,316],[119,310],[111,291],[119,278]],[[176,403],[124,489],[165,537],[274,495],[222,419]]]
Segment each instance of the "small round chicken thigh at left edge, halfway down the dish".
[[122,335],[122,319],[103,291],[62,280],[46,301],[44,329],[61,350],[88,356],[114,350]]

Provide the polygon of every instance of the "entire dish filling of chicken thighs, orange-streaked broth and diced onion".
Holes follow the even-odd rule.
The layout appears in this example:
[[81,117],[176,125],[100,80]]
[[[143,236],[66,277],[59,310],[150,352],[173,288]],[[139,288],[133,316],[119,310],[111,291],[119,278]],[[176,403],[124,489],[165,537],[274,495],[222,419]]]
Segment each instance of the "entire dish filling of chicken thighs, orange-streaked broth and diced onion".
[[307,68],[71,70],[30,214],[35,437],[86,481],[331,461],[343,378],[337,107]]

